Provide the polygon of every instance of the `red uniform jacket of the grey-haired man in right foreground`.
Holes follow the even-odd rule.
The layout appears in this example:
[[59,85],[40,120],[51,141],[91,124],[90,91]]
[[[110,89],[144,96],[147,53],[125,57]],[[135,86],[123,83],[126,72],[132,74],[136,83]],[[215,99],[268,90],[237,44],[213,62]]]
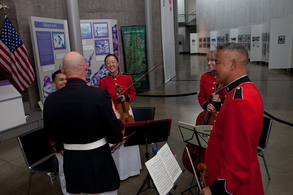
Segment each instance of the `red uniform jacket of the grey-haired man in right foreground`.
[[227,97],[217,115],[205,153],[213,195],[263,195],[257,147],[264,104],[248,76],[225,87]]

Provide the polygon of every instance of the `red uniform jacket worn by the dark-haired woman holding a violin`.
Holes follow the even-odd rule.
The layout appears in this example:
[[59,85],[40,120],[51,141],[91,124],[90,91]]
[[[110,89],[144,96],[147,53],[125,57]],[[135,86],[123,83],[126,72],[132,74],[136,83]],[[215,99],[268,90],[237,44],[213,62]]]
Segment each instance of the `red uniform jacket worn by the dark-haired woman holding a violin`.
[[[119,84],[122,89],[121,93],[125,91],[130,85],[133,84],[131,77],[129,74],[126,73],[117,73],[115,76],[108,74],[107,76],[100,79],[100,88],[107,89],[111,98],[115,99],[117,96],[119,96],[119,92],[116,92],[117,86],[116,84]],[[130,87],[127,92],[123,94],[125,96],[125,101],[130,103],[133,102],[136,97],[136,91],[134,86]],[[119,102],[115,101],[114,106],[117,110],[117,104]]]

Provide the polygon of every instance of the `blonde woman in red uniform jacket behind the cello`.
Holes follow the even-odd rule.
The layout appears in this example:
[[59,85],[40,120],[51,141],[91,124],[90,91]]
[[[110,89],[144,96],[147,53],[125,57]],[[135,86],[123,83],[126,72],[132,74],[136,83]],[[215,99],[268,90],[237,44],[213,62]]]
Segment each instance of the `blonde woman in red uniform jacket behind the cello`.
[[[221,108],[221,104],[225,99],[225,95],[227,94],[225,90],[222,90],[221,92],[219,92],[219,94],[214,94],[213,96],[211,96],[217,91],[220,84],[217,82],[216,74],[213,71],[214,65],[216,64],[215,56],[216,51],[207,52],[207,65],[210,71],[204,73],[200,79],[200,93],[198,94],[197,98],[200,106],[205,111],[219,111]],[[212,101],[215,102],[214,105],[211,104]]]

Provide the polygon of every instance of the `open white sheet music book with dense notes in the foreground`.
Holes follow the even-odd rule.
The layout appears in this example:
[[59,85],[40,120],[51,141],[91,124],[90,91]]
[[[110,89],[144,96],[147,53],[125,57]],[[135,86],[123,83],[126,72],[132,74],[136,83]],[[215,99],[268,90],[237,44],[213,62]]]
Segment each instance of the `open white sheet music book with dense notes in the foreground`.
[[160,195],[168,194],[183,173],[168,144],[145,165]]

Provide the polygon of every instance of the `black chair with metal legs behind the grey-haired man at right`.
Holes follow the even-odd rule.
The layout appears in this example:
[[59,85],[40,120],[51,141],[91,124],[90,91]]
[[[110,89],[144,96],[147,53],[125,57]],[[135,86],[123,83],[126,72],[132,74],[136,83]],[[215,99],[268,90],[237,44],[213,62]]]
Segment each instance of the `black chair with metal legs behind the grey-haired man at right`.
[[258,156],[261,156],[263,158],[263,162],[265,163],[265,170],[267,170],[269,180],[271,179],[271,177],[270,177],[270,173],[268,170],[267,162],[265,161],[265,154],[263,152],[267,148],[271,127],[272,127],[272,119],[264,116],[263,117],[263,130],[261,132],[261,136],[260,136],[260,139],[258,142],[258,146],[261,149],[259,149],[259,148],[257,149]]

